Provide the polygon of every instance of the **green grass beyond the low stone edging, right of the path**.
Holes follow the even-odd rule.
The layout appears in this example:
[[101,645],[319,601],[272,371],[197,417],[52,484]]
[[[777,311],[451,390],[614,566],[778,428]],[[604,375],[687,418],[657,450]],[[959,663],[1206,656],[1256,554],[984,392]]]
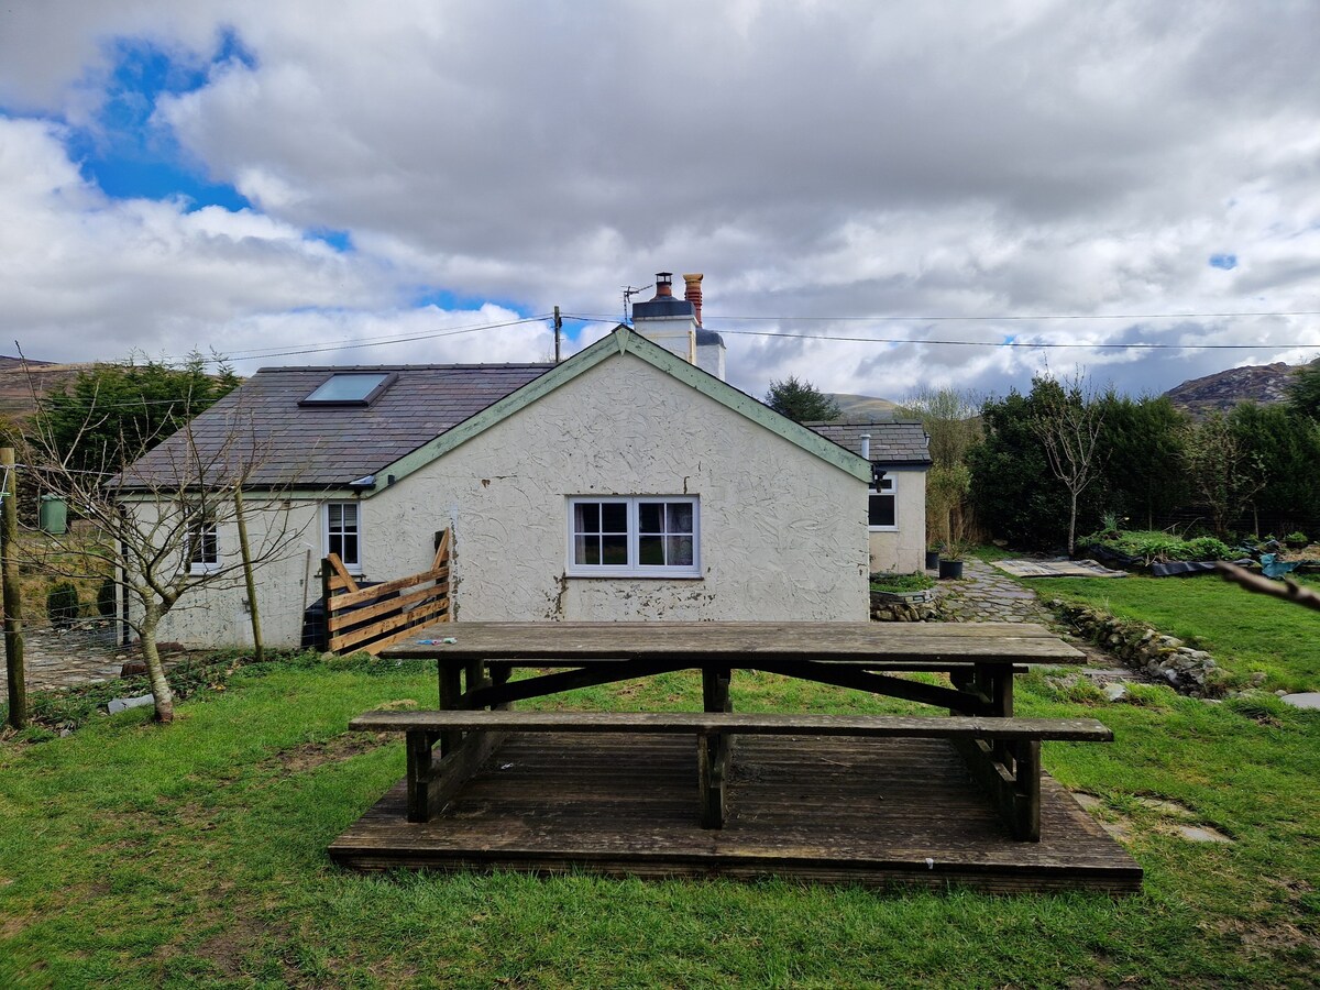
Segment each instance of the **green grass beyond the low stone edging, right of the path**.
[[[1142,622],[1199,649],[1241,680],[1265,673],[1265,686],[1320,690],[1320,614],[1251,594],[1214,574],[1184,578],[1036,578],[1045,599],[1065,598]],[[1315,586],[1313,581],[1307,581]]]

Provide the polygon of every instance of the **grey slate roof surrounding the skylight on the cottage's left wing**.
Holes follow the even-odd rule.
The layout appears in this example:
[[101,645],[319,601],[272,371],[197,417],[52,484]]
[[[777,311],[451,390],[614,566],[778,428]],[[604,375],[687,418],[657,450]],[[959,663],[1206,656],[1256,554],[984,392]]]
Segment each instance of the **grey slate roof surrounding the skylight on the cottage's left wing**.
[[[121,487],[177,483],[178,466],[201,462],[215,479],[223,465],[251,465],[251,487],[343,487],[375,474],[553,364],[381,364],[261,368],[193,421],[198,457],[176,433],[133,463]],[[397,379],[370,407],[300,407],[327,378],[385,372]],[[230,469],[232,471],[232,467]],[[195,470],[189,471],[195,475]],[[384,478],[380,479],[384,483]]]

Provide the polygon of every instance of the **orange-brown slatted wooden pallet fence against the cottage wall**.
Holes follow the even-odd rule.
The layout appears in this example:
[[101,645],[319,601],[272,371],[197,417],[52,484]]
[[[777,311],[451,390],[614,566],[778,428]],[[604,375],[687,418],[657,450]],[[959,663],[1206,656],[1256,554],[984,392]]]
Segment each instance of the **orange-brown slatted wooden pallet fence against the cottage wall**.
[[334,553],[322,562],[326,648],[334,653],[376,653],[421,626],[449,622],[449,531],[430,570],[360,587]]

